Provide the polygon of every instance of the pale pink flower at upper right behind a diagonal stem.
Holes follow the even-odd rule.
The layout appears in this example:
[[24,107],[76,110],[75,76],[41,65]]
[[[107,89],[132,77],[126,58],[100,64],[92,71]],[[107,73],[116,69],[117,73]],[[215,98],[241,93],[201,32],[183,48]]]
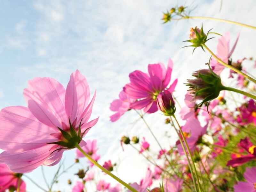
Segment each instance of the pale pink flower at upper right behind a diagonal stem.
[[[236,48],[237,41],[239,39],[239,34],[237,35],[236,42],[233,45],[232,49],[229,51],[229,41],[230,33],[226,32],[224,36],[221,36],[219,43],[217,45],[217,54],[216,56],[220,58],[223,62],[228,63],[229,58]],[[222,64],[216,61],[214,58],[211,59],[210,65],[213,69],[213,72],[217,75],[220,75],[221,71],[225,68]]]

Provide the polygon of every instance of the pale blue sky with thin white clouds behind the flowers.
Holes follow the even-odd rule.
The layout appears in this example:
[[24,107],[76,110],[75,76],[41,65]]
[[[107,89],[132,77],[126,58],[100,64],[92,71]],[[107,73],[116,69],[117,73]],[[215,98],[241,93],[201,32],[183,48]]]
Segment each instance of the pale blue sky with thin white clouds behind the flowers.
[[[179,5],[184,3],[192,7],[197,6],[191,15],[213,16],[256,25],[255,0],[248,0],[246,3],[225,0],[221,12],[220,0],[179,1]],[[130,159],[133,153],[129,153],[129,150],[125,155],[121,154],[118,141],[120,136],[124,133],[142,136],[147,135],[147,132],[141,128],[143,125],[140,122],[131,124],[137,119],[136,114],[132,112],[118,122],[110,123],[111,112],[108,109],[109,103],[118,97],[119,91],[128,82],[130,72],[136,69],[146,71],[148,63],[167,64],[168,58],[172,58],[172,81],[174,77],[179,77],[175,94],[182,103],[186,90],[183,83],[192,71],[204,67],[204,63],[209,59],[209,54],[199,49],[194,55],[190,48],[180,49],[186,45],[181,42],[188,39],[189,29],[196,25],[200,26],[202,22],[206,30],[214,28],[215,32],[221,34],[229,30],[231,44],[240,32],[240,40],[233,54],[235,60],[255,55],[255,49],[252,49],[256,43],[255,31],[250,29],[204,20],[184,20],[163,25],[162,12],[175,5],[176,1],[164,0],[2,0],[0,107],[25,105],[22,92],[29,79],[50,76],[66,86],[71,72],[79,69],[86,76],[91,92],[97,89],[92,118],[100,116],[100,120],[87,137],[98,139],[101,163],[108,158]],[[213,51],[216,50],[216,45],[217,39],[209,42]],[[160,114],[156,114],[148,121],[153,126],[159,126],[163,119]],[[162,138],[163,134],[158,133],[158,136]],[[168,146],[168,141],[163,140],[163,145]],[[74,151],[64,154],[66,165],[72,164]],[[128,168],[137,170],[140,164],[135,164],[133,160],[128,161]],[[50,180],[56,166],[45,170]],[[141,179],[145,169],[141,169],[133,177],[134,180],[129,178],[132,172],[124,175],[124,170],[127,169],[120,165],[121,177],[127,182],[132,182]],[[73,173],[76,171],[77,167],[70,172],[71,175],[64,175],[56,187],[63,189],[62,191],[70,191],[66,187],[66,181],[68,178],[73,179]],[[44,186],[40,169],[29,175]],[[28,191],[34,190],[36,188],[28,182]]]

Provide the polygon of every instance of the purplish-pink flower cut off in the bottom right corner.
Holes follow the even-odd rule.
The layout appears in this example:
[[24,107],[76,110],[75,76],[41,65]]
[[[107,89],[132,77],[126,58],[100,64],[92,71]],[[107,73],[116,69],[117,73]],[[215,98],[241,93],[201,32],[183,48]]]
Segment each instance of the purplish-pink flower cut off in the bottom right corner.
[[248,168],[244,172],[246,181],[239,181],[234,185],[234,192],[256,192],[256,167]]

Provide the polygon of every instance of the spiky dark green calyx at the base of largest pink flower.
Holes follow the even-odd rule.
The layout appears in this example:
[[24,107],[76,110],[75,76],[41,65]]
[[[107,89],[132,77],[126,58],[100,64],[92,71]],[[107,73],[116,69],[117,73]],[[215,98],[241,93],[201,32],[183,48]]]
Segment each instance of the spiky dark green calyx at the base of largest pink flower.
[[57,144],[60,145],[62,147],[65,147],[63,149],[72,149],[72,148],[76,148],[76,144],[79,144],[84,136],[84,133],[86,132],[86,130],[81,134],[81,123],[82,120],[79,124],[78,127],[78,132],[75,130],[75,128],[72,126],[70,118],[68,118],[69,121],[69,131],[64,131],[63,129],[61,129],[60,127],[58,127],[58,129],[60,130],[61,134],[62,134],[62,138],[60,141],[56,141],[56,142],[52,142],[52,143],[48,143],[48,144]]

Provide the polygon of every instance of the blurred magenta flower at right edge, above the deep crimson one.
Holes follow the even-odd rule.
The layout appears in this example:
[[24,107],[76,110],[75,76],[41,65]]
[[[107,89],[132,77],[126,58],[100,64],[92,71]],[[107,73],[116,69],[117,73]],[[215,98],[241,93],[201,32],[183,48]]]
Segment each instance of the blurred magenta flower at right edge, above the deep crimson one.
[[256,104],[254,100],[249,100],[248,105],[242,105],[239,108],[240,115],[237,116],[237,122],[241,125],[254,123],[256,125]]

